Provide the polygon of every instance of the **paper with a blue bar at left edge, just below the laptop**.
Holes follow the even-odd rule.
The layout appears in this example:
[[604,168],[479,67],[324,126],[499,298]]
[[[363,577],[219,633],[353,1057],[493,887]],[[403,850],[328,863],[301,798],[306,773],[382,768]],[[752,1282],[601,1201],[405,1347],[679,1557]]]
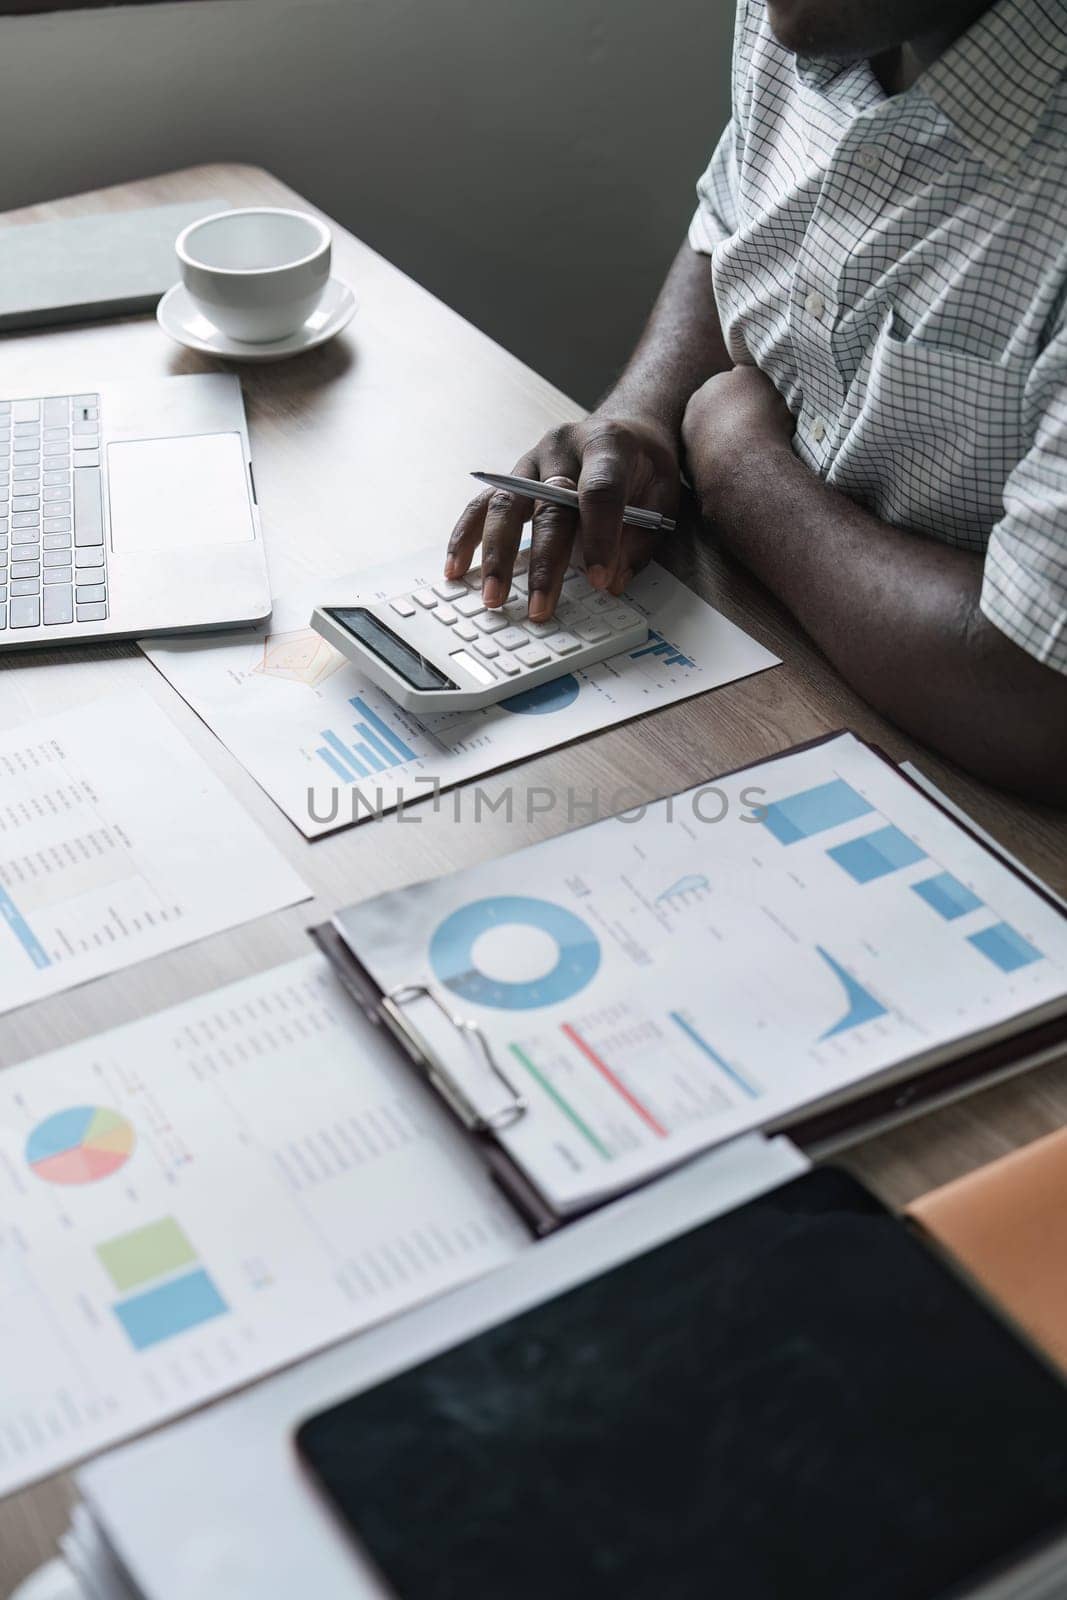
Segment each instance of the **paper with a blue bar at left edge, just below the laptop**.
[[309,893],[139,690],[0,731],[0,1011]]

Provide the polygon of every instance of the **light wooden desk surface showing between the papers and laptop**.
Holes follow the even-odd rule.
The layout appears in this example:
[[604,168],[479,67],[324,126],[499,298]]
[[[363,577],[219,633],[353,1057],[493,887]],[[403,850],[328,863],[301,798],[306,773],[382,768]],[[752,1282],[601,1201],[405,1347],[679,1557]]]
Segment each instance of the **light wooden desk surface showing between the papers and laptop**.
[[[200,166],[5,221],[200,197],[307,205],[256,168]],[[334,230],[334,270],[360,299],[349,331],[299,360],[242,370],[275,592],[307,574],[328,576],[443,539],[469,496],[470,467],[507,470],[545,427],[577,414],[561,394],[341,229]],[[11,336],[0,352],[0,384],[8,394],[78,394],[102,378],[218,365],[171,344],[149,317]],[[678,538],[669,565],[781,654],[784,666],[528,762],[514,773],[518,790],[569,787],[587,800],[593,790],[606,795],[625,787],[651,800],[798,739],[851,726],[897,758],[920,760],[981,824],[1067,891],[1067,816],[998,795],[918,750],[845,688],[766,594],[696,539]],[[88,701],[106,686],[147,690],[317,893],[314,904],[0,1018],[5,1066],[301,955],[307,925],[352,899],[566,827],[565,808],[530,826],[517,805],[514,822],[501,813],[474,827],[466,818],[456,822],[450,806],[437,814],[424,806],[418,827],[400,829],[387,818],[309,845],[133,645],[8,658],[2,670],[51,674],[56,693],[74,701]],[[0,694],[2,685],[0,677]],[[902,1203],[1064,1122],[1067,1062],[867,1141],[848,1162],[889,1202]],[[5,1378],[18,1382],[18,1374]],[[69,1498],[69,1480],[61,1477],[0,1506],[0,1595],[54,1550]]]

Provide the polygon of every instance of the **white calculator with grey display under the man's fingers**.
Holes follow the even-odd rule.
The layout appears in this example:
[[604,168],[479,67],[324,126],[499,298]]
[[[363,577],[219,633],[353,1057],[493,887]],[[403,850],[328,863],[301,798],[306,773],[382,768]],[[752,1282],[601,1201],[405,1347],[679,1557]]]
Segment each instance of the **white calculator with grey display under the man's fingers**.
[[515,560],[512,590],[499,611],[482,603],[482,571],[395,595],[347,595],[315,608],[312,627],[414,712],[478,710],[523,690],[637,650],[648,621],[625,600],[589,586],[568,568],[555,616],[526,616],[526,566]]

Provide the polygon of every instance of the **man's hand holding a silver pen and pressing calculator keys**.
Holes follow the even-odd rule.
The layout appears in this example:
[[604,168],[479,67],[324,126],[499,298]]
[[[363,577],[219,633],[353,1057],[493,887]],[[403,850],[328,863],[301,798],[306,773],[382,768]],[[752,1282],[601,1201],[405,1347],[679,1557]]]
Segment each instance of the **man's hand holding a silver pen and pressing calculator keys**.
[[533,517],[530,618],[555,611],[574,538],[593,589],[621,594],[651,560],[656,534],[622,523],[622,509],[645,506],[673,517],[678,506],[678,451],[657,421],[595,411],[584,422],[557,427],[512,469],[515,477],[576,488],[579,510],[549,506],[506,490],[470,501],[456,523],[445,562],[446,578],[461,578],[482,544],[482,597],[504,605],[523,523]]

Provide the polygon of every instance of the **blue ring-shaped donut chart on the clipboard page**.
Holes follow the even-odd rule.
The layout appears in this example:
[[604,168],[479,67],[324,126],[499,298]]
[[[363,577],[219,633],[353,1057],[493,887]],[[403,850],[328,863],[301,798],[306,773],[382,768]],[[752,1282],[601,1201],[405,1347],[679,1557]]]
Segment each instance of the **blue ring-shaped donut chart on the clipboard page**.
[[[533,930],[539,942],[552,941],[555,965],[537,976],[515,978],[478,966],[475,946],[491,944],[494,933],[514,936],[523,928]],[[600,941],[589,923],[555,901],[493,894],[461,906],[442,922],[430,939],[430,965],[464,1000],[499,1011],[530,1011],[560,1005],[584,989],[600,966]]]

